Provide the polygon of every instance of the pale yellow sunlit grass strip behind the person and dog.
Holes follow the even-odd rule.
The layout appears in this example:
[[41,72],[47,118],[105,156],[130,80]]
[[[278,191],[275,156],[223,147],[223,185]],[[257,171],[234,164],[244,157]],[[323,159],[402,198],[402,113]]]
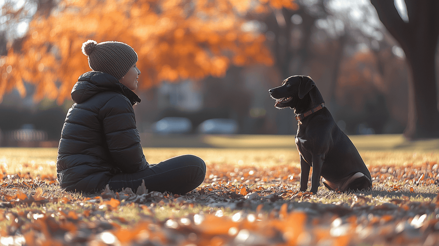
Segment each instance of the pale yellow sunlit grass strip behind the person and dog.
[[[295,148],[267,149],[216,149],[216,148],[144,148],[151,164],[168,158],[194,154],[206,164],[239,166],[299,165],[299,153]],[[423,165],[439,163],[439,152],[430,150],[410,151],[360,151],[368,167],[382,165]],[[37,175],[56,173],[56,148],[0,148],[0,168],[8,174],[32,172]]]

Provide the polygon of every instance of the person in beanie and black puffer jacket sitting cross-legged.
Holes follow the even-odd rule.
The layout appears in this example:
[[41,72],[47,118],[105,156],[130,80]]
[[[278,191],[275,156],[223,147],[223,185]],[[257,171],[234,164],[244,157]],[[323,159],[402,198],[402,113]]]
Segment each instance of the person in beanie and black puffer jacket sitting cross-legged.
[[140,70],[137,53],[120,42],[83,43],[93,71],[79,76],[72,89],[58,146],[57,176],[69,192],[96,193],[109,185],[120,191],[145,182],[149,191],[184,194],[204,181],[205,162],[181,155],[148,164],[136,128],[133,105]]

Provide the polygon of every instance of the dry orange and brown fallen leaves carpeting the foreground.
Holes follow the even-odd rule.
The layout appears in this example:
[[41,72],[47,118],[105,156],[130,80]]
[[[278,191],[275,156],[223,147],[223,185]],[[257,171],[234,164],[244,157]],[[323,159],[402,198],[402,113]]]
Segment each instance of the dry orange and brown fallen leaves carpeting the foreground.
[[[54,176],[3,172],[0,245],[437,245],[438,165],[370,169],[369,193],[299,192],[296,166],[212,164],[205,185],[184,196],[142,184],[136,193],[107,187],[76,198],[44,193],[57,186]],[[156,216],[197,206],[208,209]],[[140,210],[137,220],[119,216],[123,207]]]

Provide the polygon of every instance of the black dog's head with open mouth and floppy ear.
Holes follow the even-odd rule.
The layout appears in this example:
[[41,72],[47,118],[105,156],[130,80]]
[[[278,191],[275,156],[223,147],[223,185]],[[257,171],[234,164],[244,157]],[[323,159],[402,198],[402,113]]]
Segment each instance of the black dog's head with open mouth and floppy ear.
[[293,109],[314,86],[316,84],[309,76],[294,75],[285,79],[281,86],[269,89],[268,92],[276,99],[274,107]]

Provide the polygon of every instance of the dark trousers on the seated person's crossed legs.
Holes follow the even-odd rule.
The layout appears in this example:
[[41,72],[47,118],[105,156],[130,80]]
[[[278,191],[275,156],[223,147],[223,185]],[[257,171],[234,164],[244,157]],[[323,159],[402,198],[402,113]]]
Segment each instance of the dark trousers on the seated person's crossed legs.
[[136,192],[144,180],[148,191],[185,194],[201,185],[205,175],[204,160],[194,155],[181,155],[150,164],[143,171],[117,174],[108,185],[115,191],[128,187]]

